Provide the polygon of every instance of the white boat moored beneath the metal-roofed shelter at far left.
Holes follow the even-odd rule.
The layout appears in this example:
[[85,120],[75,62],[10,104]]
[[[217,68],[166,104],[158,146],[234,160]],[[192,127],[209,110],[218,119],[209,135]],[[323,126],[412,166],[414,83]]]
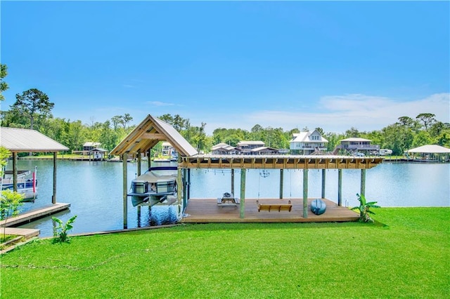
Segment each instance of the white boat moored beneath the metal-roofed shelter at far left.
[[[23,195],[23,201],[34,202],[37,198],[37,167],[34,172],[28,170],[17,171],[17,192]],[[4,171],[0,178],[1,190],[13,190],[13,171]]]

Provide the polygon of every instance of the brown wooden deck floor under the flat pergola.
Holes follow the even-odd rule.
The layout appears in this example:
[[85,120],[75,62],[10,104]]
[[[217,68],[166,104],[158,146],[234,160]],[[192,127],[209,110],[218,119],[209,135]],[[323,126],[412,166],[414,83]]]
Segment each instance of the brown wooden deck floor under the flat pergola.
[[[303,218],[303,199],[245,199],[245,217],[240,218],[240,206],[219,206],[217,199],[189,199],[184,212],[187,216],[184,223],[210,223],[210,222],[347,222],[359,220],[359,214],[338,206],[333,201],[323,199],[326,203],[326,212],[315,215],[311,212],[311,201],[308,199],[308,218]],[[260,211],[259,204],[288,204],[291,201],[292,211]]]

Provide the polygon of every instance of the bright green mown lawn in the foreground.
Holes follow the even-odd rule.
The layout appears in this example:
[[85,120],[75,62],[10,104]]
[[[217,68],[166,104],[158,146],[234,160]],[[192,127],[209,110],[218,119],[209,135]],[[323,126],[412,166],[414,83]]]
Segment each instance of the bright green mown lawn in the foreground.
[[450,208],[374,211],[34,241],[1,257],[1,298],[449,298]]

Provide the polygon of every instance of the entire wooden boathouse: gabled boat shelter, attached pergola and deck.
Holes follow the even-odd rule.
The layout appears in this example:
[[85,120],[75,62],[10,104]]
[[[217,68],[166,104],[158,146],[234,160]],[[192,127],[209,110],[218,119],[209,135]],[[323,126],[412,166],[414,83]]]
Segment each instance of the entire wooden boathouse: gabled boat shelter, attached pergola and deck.
[[[383,162],[380,157],[349,157],[335,155],[213,155],[198,154],[181,134],[161,119],[148,115],[139,126],[136,126],[111,154],[119,154],[124,162],[123,167],[123,206],[124,228],[127,228],[127,159],[138,159],[137,174],[141,175],[141,153],[149,152],[150,148],[160,141],[170,142],[179,152],[178,171],[176,176],[176,206],[178,206],[178,219],[181,222],[306,222],[306,221],[353,221],[358,214],[342,207],[342,169],[361,171],[361,194],[366,190],[366,170]],[[231,193],[237,200],[233,203],[219,203],[218,199],[190,199],[192,168],[231,169]],[[256,199],[245,198],[245,173],[247,169],[279,169],[280,196],[278,199],[259,199],[258,212]],[[285,169],[302,169],[303,197],[290,199],[292,208],[281,206],[288,204],[283,199],[283,171]],[[311,201],[308,194],[309,169],[322,169],[321,199],[326,201],[326,213],[314,215],[310,211]],[[338,204],[326,200],[326,169],[338,169]],[[240,170],[240,192],[235,192],[234,173]],[[226,178],[224,178],[226,180]],[[217,194],[218,197],[221,194]],[[264,197],[264,195],[263,195]],[[234,197],[233,197],[234,198]],[[266,211],[269,201],[275,201],[281,211]],[[285,203],[284,203],[285,201]],[[238,202],[238,203],[237,203]],[[290,210],[290,211],[288,211]]]

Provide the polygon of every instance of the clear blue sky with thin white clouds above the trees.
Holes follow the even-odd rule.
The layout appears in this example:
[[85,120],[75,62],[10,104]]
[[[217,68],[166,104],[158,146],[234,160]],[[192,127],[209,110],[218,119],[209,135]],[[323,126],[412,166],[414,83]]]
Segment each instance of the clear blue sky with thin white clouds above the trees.
[[450,122],[448,1],[1,1],[2,109],[180,114],[194,126],[379,130]]

